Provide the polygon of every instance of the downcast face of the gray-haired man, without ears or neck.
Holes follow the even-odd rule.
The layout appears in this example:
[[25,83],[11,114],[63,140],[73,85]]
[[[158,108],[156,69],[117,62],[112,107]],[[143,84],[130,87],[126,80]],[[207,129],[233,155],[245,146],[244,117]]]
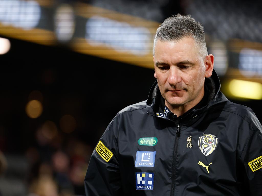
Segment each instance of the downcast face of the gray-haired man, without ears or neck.
[[201,100],[204,95],[205,65],[192,37],[175,42],[158,40],[153,58],[155,78],[167,105],[194,106]]

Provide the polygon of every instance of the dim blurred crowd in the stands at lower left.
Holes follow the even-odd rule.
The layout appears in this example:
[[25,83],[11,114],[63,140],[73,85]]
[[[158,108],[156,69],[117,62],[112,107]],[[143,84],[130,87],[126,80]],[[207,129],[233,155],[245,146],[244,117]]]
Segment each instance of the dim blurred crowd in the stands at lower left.
[[85,195],[92,147],[75,134],[57,132],[51,137],[50,133],[43,125],[36,130],[35,144],[29,145],[24,156],[0,148],[0,196]]

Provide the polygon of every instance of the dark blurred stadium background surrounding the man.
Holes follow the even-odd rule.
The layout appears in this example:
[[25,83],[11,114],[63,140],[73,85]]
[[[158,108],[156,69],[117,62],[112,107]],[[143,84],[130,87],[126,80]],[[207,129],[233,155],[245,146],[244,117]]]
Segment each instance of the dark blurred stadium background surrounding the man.
[[[167,17],[205,27],[222,92],[262,120],[261,1],[0,0],[0,195],[84,195],[92,150],[147,99]],[[232,122],[233,123],[233,122]]]

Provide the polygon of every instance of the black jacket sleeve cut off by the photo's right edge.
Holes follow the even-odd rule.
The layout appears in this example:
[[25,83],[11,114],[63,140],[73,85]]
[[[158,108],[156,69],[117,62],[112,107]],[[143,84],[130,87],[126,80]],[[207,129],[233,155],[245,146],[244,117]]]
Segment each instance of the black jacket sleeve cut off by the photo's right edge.
[[245,168],[245,183],[249,187],[248,195],[262,195],[262,126],[253,111],[251,119],[250,137],[240,159]]

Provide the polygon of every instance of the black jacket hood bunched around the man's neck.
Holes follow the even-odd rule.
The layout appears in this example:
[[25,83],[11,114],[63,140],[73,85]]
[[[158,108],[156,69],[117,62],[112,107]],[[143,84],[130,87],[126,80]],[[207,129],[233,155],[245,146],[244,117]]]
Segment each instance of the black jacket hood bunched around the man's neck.
[[[220,87],[221,85],[220,85],[219,77],[217,73],[215,72],[215,70],[213,69],[212,76],[209,78],[205,78],[205,89],[207,89],[207,92],[205,93],[208,94],[208,102],[204,107],[200,109],[196,109],[193,112],[194,113],[203,112],[213,105],[229,101],[226,98],[226,96],[223,95],[223,93],[220,91]],[[156,116],[156,113],[161,112],[159,111],[161,98],[162,98],[162,95],[160,93],[160,90],[157,84],[157,80],[156,80],[150,89],[148,100],[146,101],[148,114]]]

